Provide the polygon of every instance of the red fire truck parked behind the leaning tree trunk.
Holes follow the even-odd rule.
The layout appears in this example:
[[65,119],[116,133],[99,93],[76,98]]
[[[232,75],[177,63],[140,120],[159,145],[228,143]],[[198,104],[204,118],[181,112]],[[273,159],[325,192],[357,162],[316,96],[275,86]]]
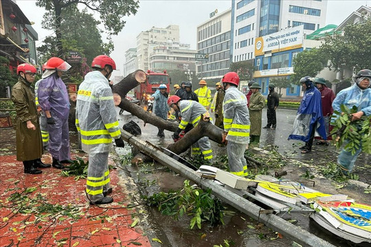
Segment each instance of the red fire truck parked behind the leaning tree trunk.
[[148,100],[150,95],[159,89],[160,84],[166,84],[166,87],[168,88],[166,92],[170,93],[170,82],[171,79],[166,70],[162,73],[148,70],[146,73],[146,82],[138,85],[134,89],[135,98],[140,101]]

